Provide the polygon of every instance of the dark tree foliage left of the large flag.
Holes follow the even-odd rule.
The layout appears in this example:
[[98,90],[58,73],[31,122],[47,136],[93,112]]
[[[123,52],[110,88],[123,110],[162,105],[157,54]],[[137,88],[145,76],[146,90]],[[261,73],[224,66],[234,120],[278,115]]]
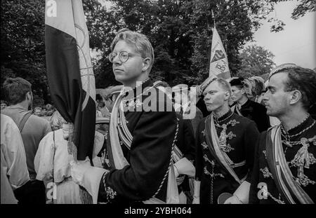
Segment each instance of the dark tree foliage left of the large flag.
[[48,95],[44,8],[39,0],[1,1],[1,86],[7,77],[20,76],[33,84],[35,98]]

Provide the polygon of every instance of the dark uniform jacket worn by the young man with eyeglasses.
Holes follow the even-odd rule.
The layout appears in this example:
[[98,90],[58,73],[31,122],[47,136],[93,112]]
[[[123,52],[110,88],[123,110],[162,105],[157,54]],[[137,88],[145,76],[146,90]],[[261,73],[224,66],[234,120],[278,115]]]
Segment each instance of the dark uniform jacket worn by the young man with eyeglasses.
[[[143,83],[152,87],[152,81]],[[142,95],[143,103],[149,96],[153,103],[162,105],[165,109],[169,102],[166,95],[154,88],[159,95]],[[139,95],[134,89],[134,96]],[[126,99],[128,100],[128,99]],[[133,104],[129,100],[126,104]],[[134,104],[140,107],[139,104]],[[169,105],[170,106],[170,105]],[[98,201],[105,203],[129,203],[148,200],[155,195],[159,200],[166,200],[168,182],[167,170],[171,161],[171,149],[175,141],[177,119],[173,111],[126,111],[126,125],[133,135],[131,149],[121,142],[121,149],[129,165],[121,170],[111,166],[110,172],[105,172],[100,182]],[[110,137],[109,137],[110,138]],[[110,139],[107,141],[108,156],[111,161]],[[158,191],[159,190],[159,191]]]

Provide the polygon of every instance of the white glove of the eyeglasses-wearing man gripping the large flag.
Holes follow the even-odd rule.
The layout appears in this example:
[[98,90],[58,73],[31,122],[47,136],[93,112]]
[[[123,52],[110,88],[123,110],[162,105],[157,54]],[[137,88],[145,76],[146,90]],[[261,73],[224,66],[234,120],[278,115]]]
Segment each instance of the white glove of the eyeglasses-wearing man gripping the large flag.
[[91,166],[90,160],[86,157],[85,161],[72,161],[72,180],[83,186],[92,196],[93,203],[97,203],[100,179],[107,170]]

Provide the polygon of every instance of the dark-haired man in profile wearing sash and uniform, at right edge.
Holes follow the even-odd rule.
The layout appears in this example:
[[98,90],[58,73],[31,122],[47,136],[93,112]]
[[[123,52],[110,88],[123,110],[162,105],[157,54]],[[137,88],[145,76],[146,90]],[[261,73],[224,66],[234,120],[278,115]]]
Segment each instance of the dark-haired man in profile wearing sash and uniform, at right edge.
[[281,123],[262,132],[255,155],[250,203],[316,202],[316,73],[295,64],[272,70],[263,103]]

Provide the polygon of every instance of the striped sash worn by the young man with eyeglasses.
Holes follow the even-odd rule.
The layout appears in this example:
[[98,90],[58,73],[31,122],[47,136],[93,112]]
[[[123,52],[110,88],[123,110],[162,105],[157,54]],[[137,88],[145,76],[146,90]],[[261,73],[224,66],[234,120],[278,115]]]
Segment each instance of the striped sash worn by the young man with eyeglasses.
[[[111,120],[110,120],[110,160],[113,161],[114,167],[118,170],[121,170],[126,165],[129,165],[129,162],[124,157],[123,151],[121,150],[121,145],[119,144],[119,138],[123,141],[128,149],[131,149],[131,142],[133,140],[133,136],[131,132],[127,128],[126,119],[124,116],[124,108],[122,99],[125,95],[125,90],[121,90],[121,93],[117,97],[117,100],[114,102],[114,106],[112,109]],[[119,123],[118,123],[119,121]],[[120,125],[120,126],[119,126]],[[177,124],[178,125],[178,124]],[[175,136],[176,137],[176,136]],[[173,142],[174,143],[174,142]],[[179,203],[178,196],[178,186],[176,184],[175,172],[173,171],[173,161],[170,160],[169,169],[166,172],[166,176],[168,176],[168,184],[167,184],[167,193],[166,193],[166,202],[155,198],[154,196],[159,192],[162,184],[159,186],[158,191],[150,198],[149,200],[144,200],[145,204],[158,204],[158,203]],[[168,173],[168,175],[167,175]],[[164,182],[164,179],[162,183]]]

